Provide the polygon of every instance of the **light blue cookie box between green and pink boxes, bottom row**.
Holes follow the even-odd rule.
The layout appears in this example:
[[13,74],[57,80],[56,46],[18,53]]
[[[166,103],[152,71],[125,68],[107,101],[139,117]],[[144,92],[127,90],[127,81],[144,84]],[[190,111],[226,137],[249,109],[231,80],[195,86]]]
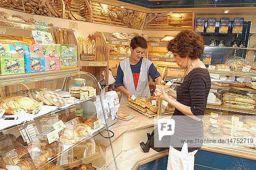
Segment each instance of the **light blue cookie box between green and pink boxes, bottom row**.
[[25,72],[44,72],[44,55],[42,53],[31,53],[29,57],[25,57]]

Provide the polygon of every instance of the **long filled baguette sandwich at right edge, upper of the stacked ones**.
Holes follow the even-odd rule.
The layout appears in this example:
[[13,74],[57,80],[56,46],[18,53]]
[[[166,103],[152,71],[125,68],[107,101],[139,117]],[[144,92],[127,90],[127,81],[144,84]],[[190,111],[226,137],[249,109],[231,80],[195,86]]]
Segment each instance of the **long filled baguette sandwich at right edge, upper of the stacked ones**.
[[242,103],[256,104],[256,102],[248,95],[238,95],[233,93],[226,93],[223,95],[223,101],[239,101]]

